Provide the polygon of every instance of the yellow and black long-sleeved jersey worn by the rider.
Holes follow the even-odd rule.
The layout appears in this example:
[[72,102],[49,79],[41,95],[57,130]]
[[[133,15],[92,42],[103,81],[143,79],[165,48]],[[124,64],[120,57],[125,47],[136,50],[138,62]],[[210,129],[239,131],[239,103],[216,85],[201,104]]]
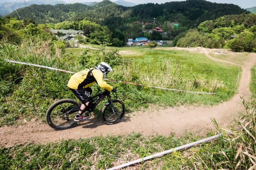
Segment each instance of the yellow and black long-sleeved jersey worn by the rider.
[[[92,73],[90,72],[92,71]],[[95,83],[95,80],[97,84],[108,91],[112,91],[113,87],[109,86],[104,80],[103,80],[103,73],[99,71],[96,68],[90,68],[82,70],[78,73],[75,73],[72,75],[68,81],[68,87],[72,89],[82,89],[92,86]],[[88,74],[90,72],[90,74]]]

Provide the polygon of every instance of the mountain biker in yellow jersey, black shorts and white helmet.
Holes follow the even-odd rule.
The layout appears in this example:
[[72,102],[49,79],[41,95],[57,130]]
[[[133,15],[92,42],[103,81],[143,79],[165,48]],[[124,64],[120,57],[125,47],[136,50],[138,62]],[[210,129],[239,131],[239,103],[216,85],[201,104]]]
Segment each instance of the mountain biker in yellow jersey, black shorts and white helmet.
[[82,103],[74,121],[83,121],[89,118],[89,114],[86,114],[85,116],[82,116],[82,114],[86,106],[89,105],[89,100],[92,94],[90,86],[95,82],[101,88],[115,92],[116,89],[104,81],[108,72],[113,72],[113,69],[106,62],[101,62],[98,67],[82,70],[70,77],[68,87]]

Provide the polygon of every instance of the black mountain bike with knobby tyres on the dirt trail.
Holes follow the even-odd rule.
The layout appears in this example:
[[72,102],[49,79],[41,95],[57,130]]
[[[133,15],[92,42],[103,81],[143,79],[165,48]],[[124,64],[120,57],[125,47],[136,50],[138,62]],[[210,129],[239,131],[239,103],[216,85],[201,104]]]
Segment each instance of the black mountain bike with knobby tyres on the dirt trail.
[[[93,96],[89,105],[85,108],[85,114],[92,116],[92,112],[96,106],[107,96],[108,101],[102,109],[102,119],[105,124],[112,125],[118,123],[125,112],[125,106],[120,99],[111,98],[110,91],[103,91]],[[71,128],[78,123],[74,121],[75,115],[78,113],[82,103],[78,103],[73,99],[61,99],[53,103],[46,112],[46,121],[48,125],[55,130],[65,130]]]

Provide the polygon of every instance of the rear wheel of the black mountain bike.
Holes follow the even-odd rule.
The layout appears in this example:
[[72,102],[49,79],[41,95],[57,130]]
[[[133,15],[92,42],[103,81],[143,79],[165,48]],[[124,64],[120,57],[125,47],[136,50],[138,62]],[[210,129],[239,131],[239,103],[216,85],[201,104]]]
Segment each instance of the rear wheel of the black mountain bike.
[[77,123],[74,117],[80,106],[78,102],[72,99],[61,99],[53,103],[46,112],[46,121],[48,125],[55,130],[65,130],[75,126]]

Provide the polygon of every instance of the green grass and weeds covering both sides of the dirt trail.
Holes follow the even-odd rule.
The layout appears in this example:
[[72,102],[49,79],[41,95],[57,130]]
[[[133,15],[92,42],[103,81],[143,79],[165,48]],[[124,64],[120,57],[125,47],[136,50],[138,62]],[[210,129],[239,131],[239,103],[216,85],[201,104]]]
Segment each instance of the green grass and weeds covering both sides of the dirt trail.
[[[71,54],[52,56],[47,48],[39,48],[34,52],[35,49],[31,46],[23,49],[23,47],[7,44],[1,47],[0,88],[1,92],[3,91],[0,105],[1,125],[12,125],[18,117],[26,117],[26,120],[31,117],[42,119],[54,100],[74,98],[70,91],[66,91],[66,83],[70,75],[3,61],[5,56],[7,59],[20,59],[74,72],[81,69],[77,56]],[[44,49],[46,50],[43,51]],[[129,51],[129,49],[126,50]],[[119,92],[114,97],[123,97],[128,111],[139,108],[141,105],[147,107],[149,103],[160,106],[217,104],[231,98],[236,91],[237,87],[234,84],[237,80],[237,67],[213,62],[203,54],[155,49],[134,49],[133,53],[136,55],[123,55],[130,60],[129,65],[116,68],[117,71],[110,78],[125,78],[125,80],[149,85],[194,88],[202,91],[212,91],[217,82],[217,91],[222,93],[198,95],[119,83]],[[255,72],[255,69],[252,69],[250,88],[253,93],[256,91]],[[109,83],[117,86],[115,82]],[[96,87],[93,88],[97,91]],[[251,160],[256,156],[255,105],[255,97],[252,98],[251,103],[244,102],[246,111],[242,119],[231,125],[234,129],[241,125],[247,125],[247,128],[233,130],[231,134],[224,133],[222,138],[141,162],[136,165],[136,168],[249,169],[252,166]],[[218,130],[221,131],[221,128]],[[60,140],[55,143],[1,146],[0,169],[107,169],[213,135],[215,135],[213,131],[205,135],[187,132],[180,138],[175,137],[174,134],[142,136],[139,133],[130,133]]]

